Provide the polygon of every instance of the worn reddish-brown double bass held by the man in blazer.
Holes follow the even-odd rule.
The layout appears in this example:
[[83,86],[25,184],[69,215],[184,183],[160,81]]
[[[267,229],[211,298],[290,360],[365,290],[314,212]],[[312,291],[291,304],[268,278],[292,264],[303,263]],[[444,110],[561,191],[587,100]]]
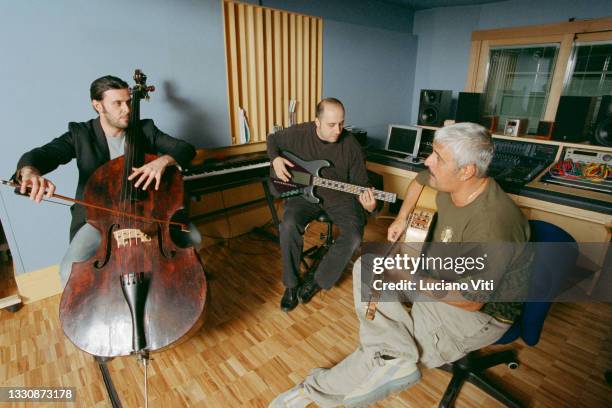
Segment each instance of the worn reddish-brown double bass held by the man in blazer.
[[177,246],[170,234],[170,220],[183,206],[180,172],[166,168],[158,190],[128,180],[133,168],[157,158],[145,153],[140,128],[140,100],[154,88],[140,70],[134,80],[125,154],[99,167],[84,191],[87,222],[100,232],[100,246],[73,264],[60,301],[65,335],[99,357],[148,358],[204,321],[202,263],[195,248]]

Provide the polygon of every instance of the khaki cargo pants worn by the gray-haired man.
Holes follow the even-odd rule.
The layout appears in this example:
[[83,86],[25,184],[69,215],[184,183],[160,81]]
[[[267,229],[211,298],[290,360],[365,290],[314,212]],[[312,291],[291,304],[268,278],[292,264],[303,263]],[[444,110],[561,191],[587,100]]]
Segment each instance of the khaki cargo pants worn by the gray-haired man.
[[403,357],[439,367],[497,341],[510,327],[481,312],[443,302],[380,302],[376,318],[365,319],[361,301],[361,258],[353,266],[353,297],[359,318],[359,347],[330,369],[315,369],[304,381],[306,394],[321,407],[342,404],[377,365],[379,355]]

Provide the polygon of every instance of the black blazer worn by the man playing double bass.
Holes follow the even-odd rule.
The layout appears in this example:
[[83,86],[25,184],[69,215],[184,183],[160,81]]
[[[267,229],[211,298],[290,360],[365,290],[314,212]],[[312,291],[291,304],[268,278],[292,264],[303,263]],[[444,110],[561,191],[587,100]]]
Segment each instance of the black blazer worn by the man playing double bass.
[[[187,167],[195,156],[195,148],[191,144],[168,136],[159,130],[151,119],[143,119],[140,123],[146,153],[168,154],[180,166]],[[100,124],[100,118],[81,123],[70,122],[68,132],[21,156],[15,175],[19,174],[19,170],[24,166],[35,167],[41,174],[46,174],[74,158],[77,160],[79,169],[79,182],[75,196],[82,200],[85,184],[91,174],[110,160],[108,143]],[[70,212],[72,214],[70,240],[72,241],[74,234],[85,224],[85,208],[75,204],[70,208]]]

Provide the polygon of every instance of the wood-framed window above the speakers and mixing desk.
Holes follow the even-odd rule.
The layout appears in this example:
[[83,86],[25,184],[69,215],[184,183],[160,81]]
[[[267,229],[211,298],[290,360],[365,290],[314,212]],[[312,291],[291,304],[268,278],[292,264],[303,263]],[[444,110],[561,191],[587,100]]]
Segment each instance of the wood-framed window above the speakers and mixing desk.
[[[612,93],[612,17],[472,32],[466,92],[485,113],[553,122],[562,95]],[[595,107],[597,109],[597,107]]]

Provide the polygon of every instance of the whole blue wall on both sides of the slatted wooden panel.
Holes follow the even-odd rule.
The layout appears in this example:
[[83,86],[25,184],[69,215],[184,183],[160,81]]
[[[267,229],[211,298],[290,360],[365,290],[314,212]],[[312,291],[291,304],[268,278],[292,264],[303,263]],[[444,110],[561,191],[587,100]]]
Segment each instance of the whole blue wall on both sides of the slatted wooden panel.
[[[324,18],[324,93],[344,100],[350,123],[381,136],[386,123],[410,112],[410,10],[378,1],[263,4]],[[69,121],[94,117],[93,79],[114,74],[132,82],[134,68],[157,87],[143,117],[198,147],[229,144],[223,39],[221,0],[0,2],[0,175],[8,178],[23,152],[65,132]],[[58,193],[73,195],[74,164],[49,178]],[[67,207],[35,205],[5,188],[0,218],[17,273],[59,263]]]

